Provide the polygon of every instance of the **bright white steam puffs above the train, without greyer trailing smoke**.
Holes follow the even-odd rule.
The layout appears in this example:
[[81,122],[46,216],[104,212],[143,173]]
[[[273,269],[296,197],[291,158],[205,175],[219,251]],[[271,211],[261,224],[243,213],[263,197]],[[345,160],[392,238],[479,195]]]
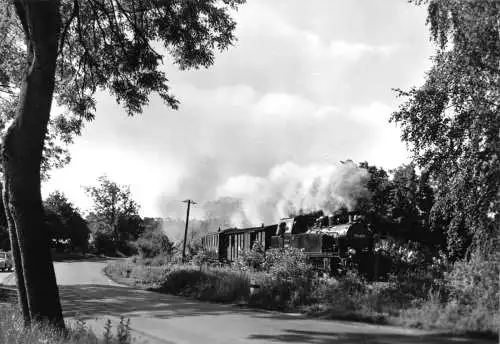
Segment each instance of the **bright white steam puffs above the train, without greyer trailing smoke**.
[[[341,208],[354,210],[366,197],[366,169],[352,161],[337,165],[300,167],[293,163],[277,165],[267,177],[240,175],[219,186],[219,205],[230,210],[230,222],[242,227],[276,223],[280,218],[323,210],[333,213]],[[224,198],[223,198],[224,197]],[[232,207],[227,206],[227,200]],[[235,205],[234,199],[241,200]]]

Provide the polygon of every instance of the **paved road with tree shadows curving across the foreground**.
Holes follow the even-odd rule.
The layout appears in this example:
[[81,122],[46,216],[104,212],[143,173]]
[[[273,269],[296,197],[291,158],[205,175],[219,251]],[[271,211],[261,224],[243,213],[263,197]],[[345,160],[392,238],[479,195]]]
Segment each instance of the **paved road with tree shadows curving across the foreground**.
[[[131,319],[133,335],[150,344],[184,343],[491,343],[389,326],[306,319],[198,302],[117,285],[101,270],[105,261],[55,263],[67,319],[85,319],[101,332],[104,319]],[[0,274],[5,275],[5,274]],[[1,279],[2,277],[0,277]],[[1,282],[1,281],[0,281]]]

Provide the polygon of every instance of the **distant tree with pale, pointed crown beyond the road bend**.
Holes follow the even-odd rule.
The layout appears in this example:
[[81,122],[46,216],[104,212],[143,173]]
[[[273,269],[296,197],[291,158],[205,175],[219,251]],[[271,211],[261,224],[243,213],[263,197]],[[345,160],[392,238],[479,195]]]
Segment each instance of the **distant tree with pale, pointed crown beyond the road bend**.
[[136,239],[141,232],[139,206],[132,199],[130,187],[118,185],[106,176],[99,177],[99,186],[85,187],[94,202],[92,213],[97,221],[111,229],[115,245]]

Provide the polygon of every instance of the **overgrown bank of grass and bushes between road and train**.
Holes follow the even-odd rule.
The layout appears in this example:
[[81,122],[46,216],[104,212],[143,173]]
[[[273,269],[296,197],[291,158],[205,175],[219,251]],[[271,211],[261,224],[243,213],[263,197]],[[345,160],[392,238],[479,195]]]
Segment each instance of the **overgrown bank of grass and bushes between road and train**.
[[258,264],[247,263],[213,266],[195,257],[189,264],[180,264],[168,257],[136,256],[111,262],[104,272],[119,283],[204,301],[498,336],[498,283],[494,281],[498,266],[494,262],[455,264],[439,274],[422,268],[371,282],[355,271],[319,276],[300,251],[274,250]]

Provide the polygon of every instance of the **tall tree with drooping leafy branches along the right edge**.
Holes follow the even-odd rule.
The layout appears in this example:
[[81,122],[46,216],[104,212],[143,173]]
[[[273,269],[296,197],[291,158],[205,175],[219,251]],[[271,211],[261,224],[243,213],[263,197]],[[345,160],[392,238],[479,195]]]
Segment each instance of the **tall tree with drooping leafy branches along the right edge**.
[[500,225],[500,3],[414,1],[428,7],[436,43],[423,86],[397,90],[391,120],[437,186],[433,226],[451,259],[498,250]]

